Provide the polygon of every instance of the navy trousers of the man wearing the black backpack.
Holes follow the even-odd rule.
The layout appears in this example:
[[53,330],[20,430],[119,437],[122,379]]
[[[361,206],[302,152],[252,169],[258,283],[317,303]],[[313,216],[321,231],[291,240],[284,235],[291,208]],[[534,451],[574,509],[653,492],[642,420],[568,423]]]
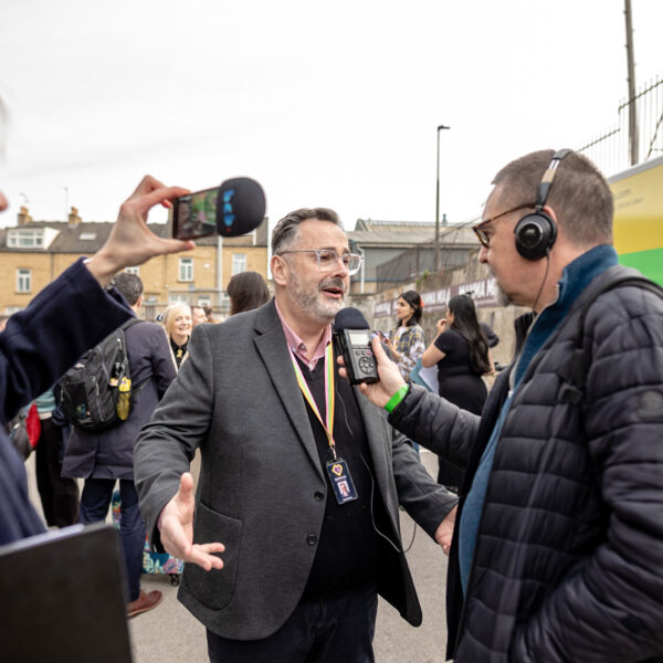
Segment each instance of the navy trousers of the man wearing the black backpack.
[[[113,498],[114,478],[86,478],[81,496],[81,523],[88,525],[106,519]],[[135,601],[140,593],[143,548],[145,547],[145,522],[138,511],[138,493],[130,478],[119,480],[119,538],[127,571],[128,600]]]

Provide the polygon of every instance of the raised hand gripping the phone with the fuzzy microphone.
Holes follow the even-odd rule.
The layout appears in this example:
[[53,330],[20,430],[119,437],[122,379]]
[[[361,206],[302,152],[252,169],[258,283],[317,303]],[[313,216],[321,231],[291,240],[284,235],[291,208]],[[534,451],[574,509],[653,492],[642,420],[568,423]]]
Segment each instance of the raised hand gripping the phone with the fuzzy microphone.
[[87,263],[87,269],[102,286],[126,266],[141,265],[155,255],[189,251],[191,241],[157,236],[147,227],[147,213],[156,204],[170,207],[170,201],[188,193],[181,187],[166,187],[149,175],[143,178],[137,189],[119,208],[106,243]]

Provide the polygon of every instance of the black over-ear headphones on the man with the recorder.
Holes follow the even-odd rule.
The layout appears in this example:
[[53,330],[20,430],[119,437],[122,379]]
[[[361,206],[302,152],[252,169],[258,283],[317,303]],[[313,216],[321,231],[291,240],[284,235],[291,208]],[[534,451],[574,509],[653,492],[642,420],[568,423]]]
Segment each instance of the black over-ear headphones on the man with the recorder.
[[534,212],[523,217],[515,230],[516,250],[527,260],[540,260],[548,254],[557,239],[557,225],[549,214],[544,212],[544,206],[555,179],[555,172],[559,162],[569,154],[570,149],[560,149],[555,152],[550,166],[539,182],[536,192],[536,206]]

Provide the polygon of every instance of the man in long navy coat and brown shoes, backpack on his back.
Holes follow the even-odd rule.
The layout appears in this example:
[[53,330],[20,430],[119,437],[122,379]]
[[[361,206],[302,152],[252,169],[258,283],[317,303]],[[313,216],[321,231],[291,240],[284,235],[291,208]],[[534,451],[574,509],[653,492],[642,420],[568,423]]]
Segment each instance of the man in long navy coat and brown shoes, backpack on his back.
[[[115,277],[115,287],[138,315],[143,306],[140,277],[123,272]],[[156,608],[161,601],[160,591],[146,593],[140,589],[146,532],[134,485],[134,443],[177,371],[160,325],[148,322],[133,325],[125,329],[125,339],[134,383],[129,417],[101,431],[72,427],[62,473],[85,480],[81,497],[81,523],[84,524],[106,519],[115,483],[119,481],[119,536],[128,585],[127,614],[134,617]]]

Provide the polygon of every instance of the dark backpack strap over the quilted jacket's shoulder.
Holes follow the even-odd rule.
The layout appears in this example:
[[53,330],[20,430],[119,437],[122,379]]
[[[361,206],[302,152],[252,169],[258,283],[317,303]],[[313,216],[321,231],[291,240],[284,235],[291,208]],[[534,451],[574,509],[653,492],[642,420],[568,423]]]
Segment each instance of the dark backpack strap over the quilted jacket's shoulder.
[[635,286],[650,291],[663,298],[663,288],[649,278],[645,278],[638,270],[615,265],[606,270],[598,278],[594,278],[580,295],[580,315],[576,322],[576,334],[573,337],[573,351],[568,361],[559,367],[557,375],[561,378],[558,400],[562,403],[580,404],[585,396],[587,382],[587,358],[585,355],[585,318],[588,311],[597,298],[603,293],[618,287]]

